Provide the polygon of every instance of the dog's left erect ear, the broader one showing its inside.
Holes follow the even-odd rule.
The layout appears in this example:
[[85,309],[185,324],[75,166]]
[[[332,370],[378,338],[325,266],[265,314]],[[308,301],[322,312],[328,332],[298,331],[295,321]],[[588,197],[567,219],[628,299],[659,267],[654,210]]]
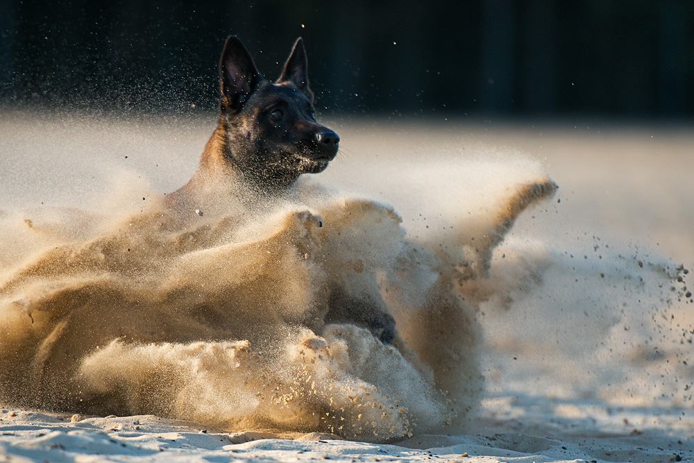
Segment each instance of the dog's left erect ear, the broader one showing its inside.
[[262,81],[262,75],[255,67],[251,53],[248,53],[235,35],[230,36],[224,44],[224,51],[221,52],[219,60],[219,74],[223,101],[232,110],[241,109],[248,96]]

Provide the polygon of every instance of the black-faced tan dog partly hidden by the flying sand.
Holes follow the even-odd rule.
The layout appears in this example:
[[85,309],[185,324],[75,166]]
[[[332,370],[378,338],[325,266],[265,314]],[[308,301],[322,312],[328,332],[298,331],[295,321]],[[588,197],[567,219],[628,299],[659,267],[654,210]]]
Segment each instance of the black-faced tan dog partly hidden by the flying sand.
[[[194,176],[167,195],[171,209],[188,215],[219,207],[225,195],[253,201],[259,196],[265,200],[282,196],[302,174],[324,171],[339,150],[337,133],[316,121],[301,37],[275,82],[260,74],[235,36],[226,40],[219,74],[217,128]],[[344,288],[332,288],[325,323],[353,323],[368,328],[382,342],[392,342],[395,320],[383,301],[372,298],[355,298]]]

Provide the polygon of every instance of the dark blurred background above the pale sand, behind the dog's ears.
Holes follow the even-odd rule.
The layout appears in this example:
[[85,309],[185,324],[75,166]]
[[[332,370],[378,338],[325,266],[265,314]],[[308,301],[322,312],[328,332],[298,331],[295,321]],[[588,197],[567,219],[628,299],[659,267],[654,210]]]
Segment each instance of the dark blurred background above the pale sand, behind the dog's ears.
[[0,103],[214,110],[229,34],[339,114],[694,116],[691,0],[0,0]]

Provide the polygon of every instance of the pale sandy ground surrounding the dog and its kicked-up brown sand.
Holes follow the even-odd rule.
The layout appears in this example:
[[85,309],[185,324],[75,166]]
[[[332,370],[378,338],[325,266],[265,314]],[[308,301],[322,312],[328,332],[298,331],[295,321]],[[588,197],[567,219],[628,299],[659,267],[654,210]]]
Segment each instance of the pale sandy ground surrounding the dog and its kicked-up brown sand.
[[[41,201],[94,208],[115,171],[149,180],[133,185],[133,203],[148,188],[173,190],[194,170],[213,122],[172,122],[107,130],[99,121],[3,118],[0,209]],[[480,171],[456,170],[469,165],[457,162],[460,156],[506,153],[502,159],[523,165],[530,155],[560,185],[551,204],[516,224],[494,254],[489,280],[475,282],[489,295],[480,317],[486,382],[467,430],[391,445],[325,435],[244,442],[268,436],[151,415],[73,423],[70,414],[3,409],[0,462],[694,459],[694,315],[687,301],[677,301],[686,276],[676,287],[668,276],[680,262],[694,264],[694,195],[687,186],[693,135],[585,124],[332,128],[344,154],[324,183],[393,203],[411,233],[425,233],[437,214],[460,212],[455,208],[466,199],[450,198],[466,188],[455,179],[480,183],[480,191],[493,183],[484,162],[476,164]]]

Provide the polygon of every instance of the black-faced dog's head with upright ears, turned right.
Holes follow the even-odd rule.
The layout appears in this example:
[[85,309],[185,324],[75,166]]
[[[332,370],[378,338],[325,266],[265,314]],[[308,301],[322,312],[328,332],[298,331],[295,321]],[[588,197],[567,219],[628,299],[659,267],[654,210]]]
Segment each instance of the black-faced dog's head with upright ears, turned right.
[[328,167],[339,137],[316,122],[301,38],[275,82],[263,78],[237,37],[226,40],[219,67],[225,155],[235,169],[271,186]]

